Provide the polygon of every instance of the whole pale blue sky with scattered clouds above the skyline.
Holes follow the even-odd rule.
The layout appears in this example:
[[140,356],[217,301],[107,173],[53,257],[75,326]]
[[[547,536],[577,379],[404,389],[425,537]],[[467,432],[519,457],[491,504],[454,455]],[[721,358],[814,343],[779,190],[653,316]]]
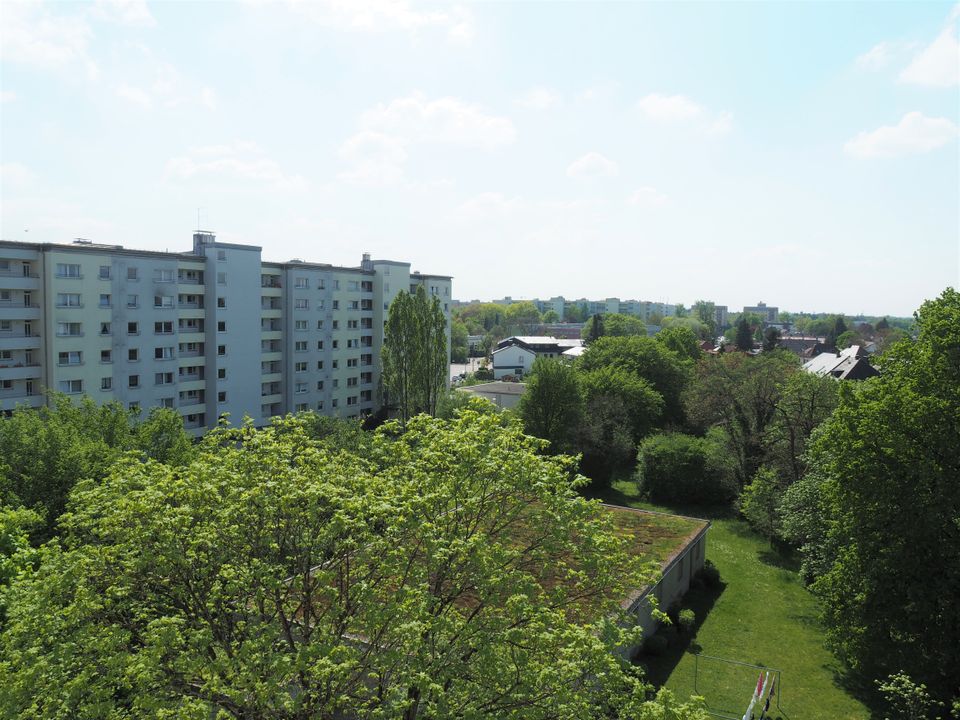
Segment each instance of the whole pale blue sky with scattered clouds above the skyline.
[[0,4],[2,237],[363,251],[462,299],[911,313],[960,284],[960,6]]

